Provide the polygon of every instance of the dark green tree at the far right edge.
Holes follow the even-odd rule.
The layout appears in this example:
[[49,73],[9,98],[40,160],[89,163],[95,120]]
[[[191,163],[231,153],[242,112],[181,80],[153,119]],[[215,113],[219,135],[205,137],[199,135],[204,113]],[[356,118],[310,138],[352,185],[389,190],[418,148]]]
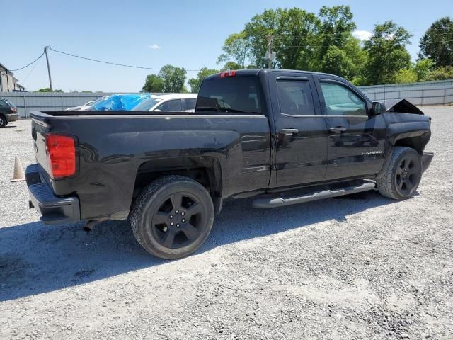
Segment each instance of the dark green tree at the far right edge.
[[448,16],[432,23],[420,39],[420,52],[435,67],[453,65],[453,21]]

